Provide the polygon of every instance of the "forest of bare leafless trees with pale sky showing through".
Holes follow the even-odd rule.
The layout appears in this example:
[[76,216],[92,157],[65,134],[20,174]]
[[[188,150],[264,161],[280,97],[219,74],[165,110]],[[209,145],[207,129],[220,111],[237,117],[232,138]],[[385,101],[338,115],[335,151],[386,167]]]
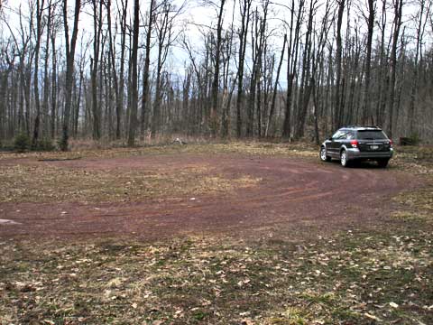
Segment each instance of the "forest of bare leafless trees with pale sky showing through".
[[318,142],[360,124],[432,142],[432,0],[0,4],[0,144]]

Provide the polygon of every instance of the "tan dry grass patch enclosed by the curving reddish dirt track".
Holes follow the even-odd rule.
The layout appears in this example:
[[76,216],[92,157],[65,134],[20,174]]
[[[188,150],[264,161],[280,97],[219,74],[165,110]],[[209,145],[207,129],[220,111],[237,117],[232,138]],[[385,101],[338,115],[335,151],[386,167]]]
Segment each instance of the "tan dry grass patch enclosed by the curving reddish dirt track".
[[248,175],[229,179],[208,166],[104,171],[15,164],[0,166],[0,202],[118,202],[229,194],[259,181]]

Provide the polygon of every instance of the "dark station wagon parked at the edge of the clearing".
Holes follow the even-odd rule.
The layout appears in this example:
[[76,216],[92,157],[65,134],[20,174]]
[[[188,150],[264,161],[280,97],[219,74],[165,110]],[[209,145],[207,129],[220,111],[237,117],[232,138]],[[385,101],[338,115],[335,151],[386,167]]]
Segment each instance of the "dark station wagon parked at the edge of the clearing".
[[375,161],[385,168],[392,158],[392,140],[376,126],[345,126],[320,145],[320,160],[338,159],[347,167],[356,161]]

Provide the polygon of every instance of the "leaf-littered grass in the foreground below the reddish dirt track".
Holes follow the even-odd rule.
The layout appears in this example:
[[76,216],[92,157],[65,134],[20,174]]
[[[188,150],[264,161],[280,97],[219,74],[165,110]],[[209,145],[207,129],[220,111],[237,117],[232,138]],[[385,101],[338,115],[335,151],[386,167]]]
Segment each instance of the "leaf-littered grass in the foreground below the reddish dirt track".
[[0,243],[0,324],[428,324],[432,233]]

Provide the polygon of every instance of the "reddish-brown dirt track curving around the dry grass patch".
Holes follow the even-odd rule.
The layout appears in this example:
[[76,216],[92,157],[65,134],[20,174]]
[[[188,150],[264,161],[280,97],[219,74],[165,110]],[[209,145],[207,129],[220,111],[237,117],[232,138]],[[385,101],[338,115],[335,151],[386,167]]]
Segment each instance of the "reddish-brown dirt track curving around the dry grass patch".
[[[11,164],[5,160],[3,164]],[[112,159],[20,163],[104,171],[182,170],[193,164],[211,166],[229,179],[259,178],[253,187],[230,193],[166,197],[120,203],[0,202],[0,238],[140,237],[157,240],[178,235],[309,232],[362,227],[386,217],[390,198],[422,181],[409,174],[370,164],[344,169],[289,157],[243,154],[153,155]],[[317,231],[315,231],[318,234]]]

